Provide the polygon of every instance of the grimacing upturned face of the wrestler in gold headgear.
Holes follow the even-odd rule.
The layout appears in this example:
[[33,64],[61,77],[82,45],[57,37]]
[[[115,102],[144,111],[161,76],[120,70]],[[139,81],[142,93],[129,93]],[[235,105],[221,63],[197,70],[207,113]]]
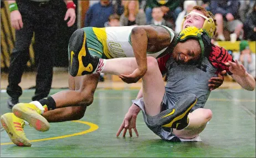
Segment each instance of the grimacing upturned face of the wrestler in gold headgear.
[[[203,14],[203,12],[199,11],[199,10],[192,10],[192,12],[197,12],[199,14]],[[203,23],[204,23],[204,18],[200,17],[199,15],[196,14],[189,14],[187,15],[184,23],[183,23],[183,28],[185,29],[187,27],[197,27],[197,28],[202,28],[203,27]]]

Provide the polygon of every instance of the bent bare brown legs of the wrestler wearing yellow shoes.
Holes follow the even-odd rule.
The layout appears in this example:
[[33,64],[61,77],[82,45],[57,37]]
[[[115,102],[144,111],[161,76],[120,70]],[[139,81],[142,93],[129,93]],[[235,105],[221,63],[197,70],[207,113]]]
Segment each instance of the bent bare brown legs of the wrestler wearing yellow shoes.
[[[53,94],[57,109],[43,113],[48,122],[64,122],[84,117],[86,107],[93,102],[99,74],[79,77],[69,76],[69,90]],[[70,106],[58,108],[60,106]]]

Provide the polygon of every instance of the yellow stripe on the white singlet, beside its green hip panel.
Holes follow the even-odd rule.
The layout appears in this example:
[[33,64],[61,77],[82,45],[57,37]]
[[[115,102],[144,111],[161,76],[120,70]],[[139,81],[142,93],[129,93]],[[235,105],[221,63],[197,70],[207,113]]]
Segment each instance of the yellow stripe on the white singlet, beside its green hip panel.
[[106,28],[93,28],[94,34],[98,38],[101,44],[103,44],[103,52],[106,55],[108,59],[112,59],[112,57],[109,53],[109,50],[107,49],[107,35],[106,35]]

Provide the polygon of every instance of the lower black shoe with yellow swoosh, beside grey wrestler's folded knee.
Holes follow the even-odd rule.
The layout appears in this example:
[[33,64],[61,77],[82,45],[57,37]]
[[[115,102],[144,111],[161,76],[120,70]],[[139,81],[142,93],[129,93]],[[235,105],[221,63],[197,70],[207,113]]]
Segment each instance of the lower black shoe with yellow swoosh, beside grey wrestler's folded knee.
[[188,94],[186,98],[181,98],[172,109],[164,110],[163,112],[151,117],[147,115],[147,120],[150,127],[167,127],[175,129],[183,129],[189,123],[188,113],[196,104],[197,97],[194,94]]

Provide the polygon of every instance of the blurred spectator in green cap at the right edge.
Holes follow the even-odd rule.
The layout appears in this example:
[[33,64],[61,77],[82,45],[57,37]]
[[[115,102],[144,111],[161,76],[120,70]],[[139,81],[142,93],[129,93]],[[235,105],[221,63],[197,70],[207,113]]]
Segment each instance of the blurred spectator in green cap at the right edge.
[[239,61],[243,64],[246,71],[255,79],[255,54],[250,50],[249,43],[246,40],[240,41]]

